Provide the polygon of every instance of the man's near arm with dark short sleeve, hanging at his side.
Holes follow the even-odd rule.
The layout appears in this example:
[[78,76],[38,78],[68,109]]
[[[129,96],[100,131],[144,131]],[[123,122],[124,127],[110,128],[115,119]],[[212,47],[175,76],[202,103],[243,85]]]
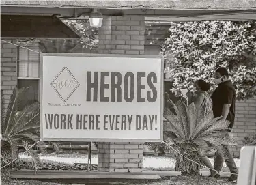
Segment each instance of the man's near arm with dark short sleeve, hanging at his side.
[[229,87],[225,87],[223,89],[223,100],[224,100],[224,105],[222,110],[222,116],[223,116],[223,119],[226,120],[227,115],[229,115],[229,109],[233,100],[233,90],[230,89]]

